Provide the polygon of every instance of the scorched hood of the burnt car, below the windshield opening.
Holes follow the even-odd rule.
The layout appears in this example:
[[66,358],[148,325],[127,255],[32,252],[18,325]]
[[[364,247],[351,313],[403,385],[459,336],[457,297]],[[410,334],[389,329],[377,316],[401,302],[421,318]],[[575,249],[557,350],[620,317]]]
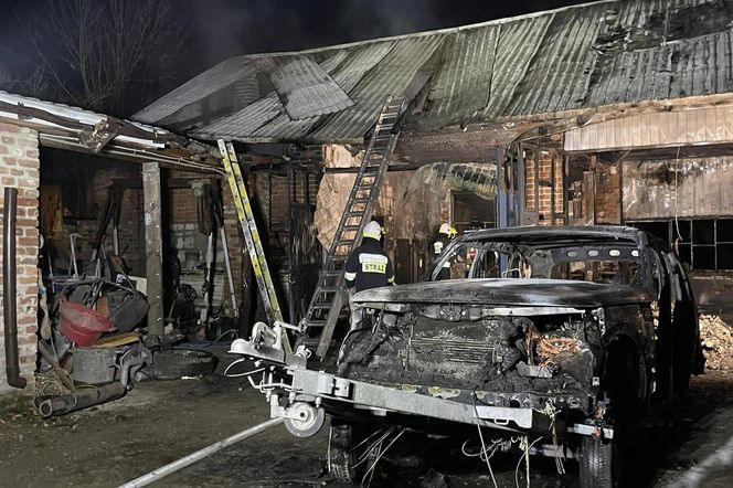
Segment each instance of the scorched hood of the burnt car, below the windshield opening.
[[360,304],[477,304],[578,308],[649,300],[644,289],[627,285],[538,278],[447,279],[372,288],[353,296],[353,301]]

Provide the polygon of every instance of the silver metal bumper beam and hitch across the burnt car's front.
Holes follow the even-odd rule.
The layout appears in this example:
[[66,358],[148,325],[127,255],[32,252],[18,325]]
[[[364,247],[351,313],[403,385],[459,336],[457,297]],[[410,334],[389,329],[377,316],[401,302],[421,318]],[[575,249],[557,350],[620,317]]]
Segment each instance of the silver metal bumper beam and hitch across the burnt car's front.
[[[595,424],[563,423],[555,418],[561,407],[573,407],[583,401],[573,395],[552,395],[551,403],[557,405],[557,410],[538,410],[521,406],[530,404],[529,396],[537,395],[534,393],[513,393],[509,399],[506,393],[481,391],[436,389],[431,392],[414,385],[366,383],[315,371],[307,368],[310,351],[305,347],[294,353],[283,350],[277,338],[286,328],[298,329],[283,322],[276,322],[273,328],[259,322],[255,325],[252,339],[235,340],[230,352],[255,360],[256,371],[263,371],[263,376],[258,383],[248,376],[249,382],[266,395],[270,416],[284,418],[285,426],[296,437],[318,433],[327,413],[354,414],[364,418],[422,416],[491,428],[508,435],[544,435],[555,441],[569,435],[608,441],[614,437],[614,429],[601,421]],[[490,403],[519,406],[493,406]],[[576,457],[573,449],[554,443],[539,444],[529,454]]]

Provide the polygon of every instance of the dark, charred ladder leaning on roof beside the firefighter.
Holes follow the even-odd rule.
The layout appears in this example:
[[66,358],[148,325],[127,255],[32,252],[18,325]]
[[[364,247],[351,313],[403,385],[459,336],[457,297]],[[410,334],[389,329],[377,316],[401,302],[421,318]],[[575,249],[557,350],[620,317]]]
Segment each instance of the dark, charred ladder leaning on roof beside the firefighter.
[[399,131],[395,131],[395,126],[405,107],[404,96],[390,96],[382,106],[304,319],[306,327],[301,337],[306,342],[312,340],[320,330],[316,356],[321,359],[328,352],[336,323],[344,305],[343,266],[351,251],[361,243],[364,225],[372,216],[374,202],[397,142]]

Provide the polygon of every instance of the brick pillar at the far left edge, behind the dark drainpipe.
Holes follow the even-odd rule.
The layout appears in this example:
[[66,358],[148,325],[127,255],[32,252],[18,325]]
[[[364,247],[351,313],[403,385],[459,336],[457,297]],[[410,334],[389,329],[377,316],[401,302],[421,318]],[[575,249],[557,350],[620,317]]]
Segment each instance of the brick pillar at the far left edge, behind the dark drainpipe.
[[[34,130],[0,124],[0,181],[18,188],[18,347],[21,375],[33,388],[36,354],[38,254],[39,254],[39,144]],[[4,190],[0,208],[4,209]],[[2,256],[0,240],[0,256]],[[0,257],[0,261],[2,257]],[[0,267],[0,274],[2,273]],[[4,305],[3,305],[4,306]],[[4,323],[0,306],[0,338]],[[4,340],[0,340],[0,392],[10,390],[6,380]]]

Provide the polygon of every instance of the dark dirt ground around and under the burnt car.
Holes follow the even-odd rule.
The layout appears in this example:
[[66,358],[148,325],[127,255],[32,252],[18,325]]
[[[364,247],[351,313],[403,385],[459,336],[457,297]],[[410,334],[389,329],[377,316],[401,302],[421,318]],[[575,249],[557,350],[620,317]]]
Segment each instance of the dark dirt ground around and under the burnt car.
[[[0,486],[119,486],[267,418],[264,396],[246,380],[222,376],[142,382],[121,400],[46,421],[28,399],[6,396],[0,399]],[[695,378],[690,392],[631,447],[638,485],[733,486],[731,463],[719,459],[723,446],[733,452],[731,418],[733,368]],[[327,446],[328,428],[296,439],[276,426],[155,486],[337,487],[323,474]],[[518,456],[495,458],[499,486],[514,486],[517,462]],[[440,486],[442,476],[423,478],[411,463],[376,475],[372,486]],[[449,486],[491,484],[477,460],[443,454],[427,464]],[[565,476],[548,459],[533,458],[531,467],[532,486],[578,486],[573,462],[565,464]]]

